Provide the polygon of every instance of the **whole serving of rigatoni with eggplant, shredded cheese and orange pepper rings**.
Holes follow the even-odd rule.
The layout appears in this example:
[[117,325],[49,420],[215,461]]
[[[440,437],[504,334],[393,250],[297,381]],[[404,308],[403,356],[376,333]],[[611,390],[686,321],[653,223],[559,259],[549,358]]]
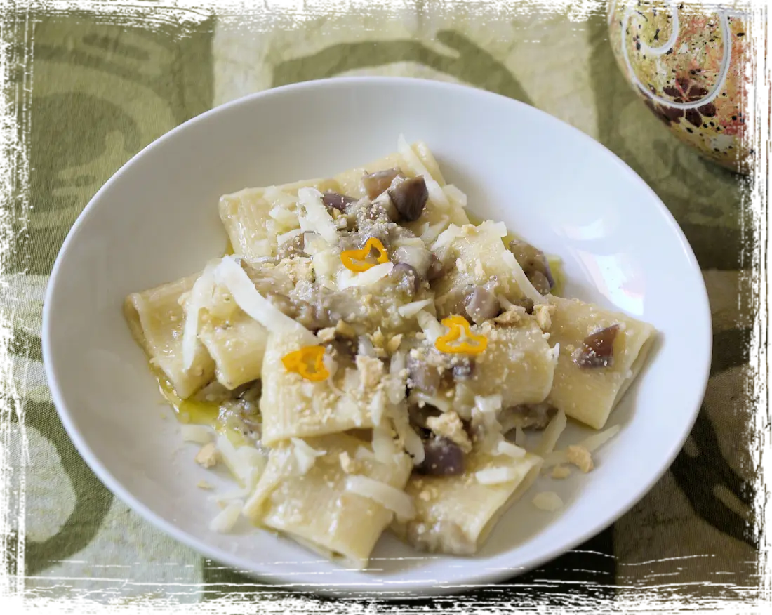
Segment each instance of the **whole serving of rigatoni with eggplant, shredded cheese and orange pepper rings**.
[[[445,183],[422,142],[224,195],[232,250],[127,297],[195,461],[241,518],[363,570],[383,532],[469,556],[539,474],[593,469],[650,324],[561,297],[560,260]],[[555,450],[567,420],[598,433]],[[191,461],[192,463],[192,461]]]

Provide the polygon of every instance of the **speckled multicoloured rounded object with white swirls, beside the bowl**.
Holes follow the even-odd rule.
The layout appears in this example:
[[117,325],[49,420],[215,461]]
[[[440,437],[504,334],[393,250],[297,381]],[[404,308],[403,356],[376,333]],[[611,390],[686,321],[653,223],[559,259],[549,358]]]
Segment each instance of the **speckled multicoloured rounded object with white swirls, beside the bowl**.
[[611,46],[682,141],[772,179],[772,0],[608,0]]

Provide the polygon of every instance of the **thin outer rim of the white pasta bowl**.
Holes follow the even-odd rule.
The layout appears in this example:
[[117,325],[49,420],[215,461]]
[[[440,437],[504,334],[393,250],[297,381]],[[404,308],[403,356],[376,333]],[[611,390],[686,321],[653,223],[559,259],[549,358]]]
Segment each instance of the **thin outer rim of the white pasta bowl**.
[[[59,387],[59,379],[57,377],[56,366],[53,365],[52,356],[52,301],[57,287],[63,284],[63,280],[59,279],[59,269],[62,266],[63,260],[66,259],[66,253],[75,240],[80,226],[91,215],[93,210],[97,208],[97,203],[100,200],[101,195],[104,192],[108,192],[117,178],[126,172],[126,169],[134,163],[135,160],[144,156],[147,151],[151,151],[153,148],[159,147],[164,141],[174,138],[174,135],[178,132],[185,131],[192,124],[197,124],[201,121],[206,121],[209,117],[221,114],[226,110],[239,107],[242,105],[252,104],[252,101],[259,100],[261,98],[280,97],[288,93],[296,93],[302,90],[308,90],[313,92],[317,88],[327,87],[356,87],[361,83],[376,83],[376,84],[388,84],[393,87],[402,86],[415,86],[427,88],[435,88],[438,90],[445,90],[449,95],[463,91],[466,93],[473,93],[480,99],[499,100],[506,101],[506,104],[510,104],[513,107],[514,112],[518,109],[522,110],[522,107],[527,107],[527,113],[537,114],[543,117],[547,122],[562,124],[561,130],[573,131],[575,136],[584,143],[584,147],[596,148],[600,151],[604,151],[605,155],[614,161],[617,165],[620,174],[626,175],[628,180],[637,185],[644,193],[648,193],[653,199],[653,203],[656,208],[659,209],[659,213],[664,217],[667,225],[672,229],[675,238],[679,241],[680,247],[683,250],[686,260],[689,264],[689,269],[696,277],[699,278],[699,297],[695,297],[695,306],[702,308],[702,318],[706,323],[704,335],[706,336],[706,355],[699,358],[694,365],[692,365],[692,373],[696,375],[694,382],[699,382],[699,390],[695,390],[696,399],[694,407],[690,410],[691,415],[689,420],[686,420],[683,424],[683,429],[678,437],[673,440],[673,445],[668,451],[668,454],[659,463],[657,471],[655,471],[649,480],[640,486],[635,497],[628,498],[626,501],[621,501],[614,508],[611,508],[603,517],[599,518],[600,521],[594,522],[589,528],[587,528],[581,534],[574,536],[571,540],[565,542],[557,542],[553,547],[545,549],[539,556],[530,559],[528,562],[521,562],[512,564],[506,562],[506,559],[499,562],[495,567],[486,568],[479,573],[472,573],[466,576],[464,579],[432,579],[428,583],[421,582],[421,575],[417,575],[418,581],[415,583],[405,583],[400,581],[393,585],[381,585],[368,587],[365,581],[366,576],[360,577],[360,579],[347,581],[334,581],[332,583],[325,580],[317,580],[310,578],[306,573],[296,573],[291,569],[282,569],[282,572],[276,573],[276,569],[267,562],[260,562],[252,560],[250,566],[245,566],[240,563],[240,559],[236,558],[232,554],[222,551],[221,549],[208,545],[207,542],[195,538],[193,535],[189,535],[187,532],[178,528],[174,523],[166,521],[151,510],[147,505],[144,505],[141,501],[137,500],[116,477],[107,469],[102,461],[94,454],[93,450],[81,435],[80,430],[76,427],[76,424],[71,416],[69,409],[66,406],[63,394]],[[155,141],[147,144],[144,148],[129,158],[128,161],[121,165],[121,167],[114,172],[113,175],[102,185],[102,187],[93,195],[88,204],[85,206],[80,215],[76,219],[73,226],[69,229],[67,236],[59,249],[56,260],[49,276],[48,284],[46,286],[46,294],[43,301],[43,313],[42,313],[42,359],[44,364],[44,370],[46,373],[46,379],[48,381],[49,389],[51,391],[52,401],[56,407],[56,411],[59,414],[59,419],[62,421],[68,437],[73,441],[79,454],[86,461],[86,464],[90,467],[91,471],[97,475],[100,481],[107,487],[115,497],[119,498],[126,505],[128,505],[133,511],[141,515],[147,522],[150,522],[156,528],[162,532],[170,535],[172,538],[187,545],[191,549],[198,552],[199,555],[218,562],[229,569],[234,569],[239,573],[251,576],[252,578],[260,579],[267,583],[271,583],[276,586],[285,587],[291,590],[299,590],[304,593],[310,593],[320,596],[330,596],[344,599],[359,599],[359,600],[407,600],[419,597],[428,596],[440,596],[452,593],[459,593],[466,590],[472,590],[481,586],[488,586],[504,579],[509,579],[513,576],[518,576],[522,573],[526,573],[529,570],[537,568],[552,559],[555,559],[564,553],[576,548],[577,546],[587,542],[587,540],[603,532],[606,528],[612,525],[622,515],[625,515],[634,505],[641,501],[642,498],[654,487],[659,479],[669,469],[672,462],[675,460],[676,455],[682,449],[683,444],[686,442],[686,438],[692,430],[692,426],[696,421],[697,414],[703,403],[703,397],[706,392],[706,387],[709,379],[709,369],[713,352],[713,326],[712,318],[709,307],[709,299],[705,282],[699,268],[699,263],[696,260],[694,251],[689,245],[689,241],[686,239],[681,227],[676,222],[672,213],[665,206],[659,195],[635,172],[628,166],[625,161],[618,158],[617,155],[604,144],[596,139],[592,138],[588,134],[579,130],[577,127],[568,124],[566,121],[561,120],[558,117],[548,114],[546,111],[540,110],[537,107],[533,107],[529,104],[523,103],[520,100],[504,97],[501,94],[489,92],[476,87],[457,83],[446,83],[442,81],[428,80],[416,77],[404,77],[404,76],[345,76],[345,77],[333,77],[319,80],[309,80],[299,83],[292,83],[282,87],[271,88],[268,90],[262,90],[256,93],[249,94],[245,97],[241,97],[225,104],[213,107],[210,110],[205,111],[195,117],[191,117],[188,121],[178,125],[161,135]],[[686,409],[685,409],[686,410]],[[365,575],[367,572],[365,571]]]

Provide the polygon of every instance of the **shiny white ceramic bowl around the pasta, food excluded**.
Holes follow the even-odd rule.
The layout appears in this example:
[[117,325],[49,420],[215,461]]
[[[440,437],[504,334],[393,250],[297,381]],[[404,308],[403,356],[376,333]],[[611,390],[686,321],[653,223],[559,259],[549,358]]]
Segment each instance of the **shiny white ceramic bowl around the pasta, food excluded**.
[[[211,478],[161,405],[121,304],[130,292],[200,270],[223,252],[220,195],[361,165],[394,151],[401,132],[428,143],[449,181],[468,193],[469,209],[562,257],[567,296],[649,321],[660,337],[611,416],[609,424],[622,430],[599,452],[598,467],[567,481],[540,479],[564,498],[562,510],[539,511],[523,499],[472,558],[418,554],[384,535],[371,568],[354,573],[268,532],[208,530],[218,509],[195,485]],[[703,278],[681,230],[641,178],[600,144],[482,90],[363,78],[236,100],[132,158],[69,233],[49,283],[42,338],[69,436],[134,511],[203,556],[269,583],[398,599],[523,573],[631,508],[689,433],[706,386],[711,326]],[[571,427],[564,441],[580,431]]]

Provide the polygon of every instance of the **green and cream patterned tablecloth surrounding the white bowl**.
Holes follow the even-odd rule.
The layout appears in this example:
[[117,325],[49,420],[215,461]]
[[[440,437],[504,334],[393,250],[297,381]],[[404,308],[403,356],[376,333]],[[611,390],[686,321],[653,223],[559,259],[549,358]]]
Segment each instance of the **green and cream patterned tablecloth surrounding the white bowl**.
[[[0,613],[772,612],[772,184],[679,144],[607,19],[604,0],[0,0]],[[124,161],[214,105],[357,74],[486,88],[598,138],[679,220],[713,305],[705,403],[656,488],[566,556],[447,599],[320,599],[201,559],[103,488],[42,370],[53,260]]]

